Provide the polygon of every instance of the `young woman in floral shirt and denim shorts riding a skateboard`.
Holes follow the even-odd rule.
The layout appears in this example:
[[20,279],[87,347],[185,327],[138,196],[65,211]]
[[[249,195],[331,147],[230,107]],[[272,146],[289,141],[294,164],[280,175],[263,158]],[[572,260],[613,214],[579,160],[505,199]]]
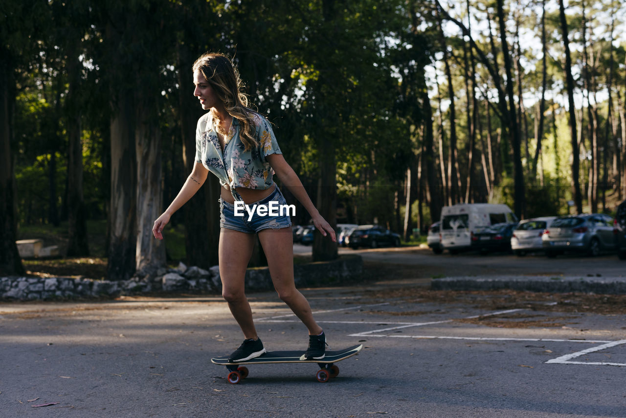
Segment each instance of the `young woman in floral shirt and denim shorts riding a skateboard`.
[[[205,54],[193,64],[195,95],[204,110],[209,110],[196,129],[196,160],[192,173],[178,196],[156,219],[152,232],[163,239],[163,227],[200,189],[212,172],[220,179],[220,243],[218,257],[222,295],[244,333],[244,343],[230,355],[232,362],[242,362],[265,353],[252,320],[252,310],[244,293],[245,271],[252,255],[255,238],[267,256],[272,283],[283,300],[309,330],[309,347],[302,360],[320,360],[326,350],[326,336],[313,318],[309,302],[294,285],[294,258],[291,221],[287,214],[262,216],[242,211],[270,204],[280,206],[285,199],[274,183],[281,184],[302,203],[323,236],[336,241],[335,231],[310,201],[302,182],[280,152],[272,127],[267,120],[248,107],[242,92],[239,73],[230,59],[222,54]],[[235,206],[237,204],[237,206]],[[238,210],[239,209],[239,210]],[[241,216],[243,212],[244,216]],[[275,216],[274,216],[275,215]]]

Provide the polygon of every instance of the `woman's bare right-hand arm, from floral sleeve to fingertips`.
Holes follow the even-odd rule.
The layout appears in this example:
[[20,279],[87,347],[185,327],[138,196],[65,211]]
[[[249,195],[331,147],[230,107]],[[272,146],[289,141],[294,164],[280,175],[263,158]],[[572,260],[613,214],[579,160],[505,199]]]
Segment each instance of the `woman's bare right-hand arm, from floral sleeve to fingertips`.
[[280,182],[289,189],[291,194],[304,206],[304,209],[309,212],[316,229],[318,229],[323,236],[326,236],[327,233],[331,234],[332,242],[336,243],[337,237],[335,230],[332,229],[331,225],[326,222],[326,219],[319,214],[309,194],[304,190],[304,185],[302,185],[300,178],[295,174],[294,169],[291,168],[289,163],[285,160],[285,157],[283,157],[282,154],[270,154],[267,155],[265,159],[272,165],[272,169],[274,169]]

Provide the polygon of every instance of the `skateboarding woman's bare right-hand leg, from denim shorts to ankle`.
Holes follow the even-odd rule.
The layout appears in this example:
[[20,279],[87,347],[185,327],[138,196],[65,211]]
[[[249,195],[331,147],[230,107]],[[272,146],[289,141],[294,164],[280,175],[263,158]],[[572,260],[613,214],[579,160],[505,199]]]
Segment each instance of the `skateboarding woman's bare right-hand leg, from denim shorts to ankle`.
[[[291,227],[264,229],[259,240],[267,257],[267,266],[279,298],[287,303],[295,316],[308,328],[310,335],[319,335],[322,328],[313,319],[309,302],[295,288],[294,243]],[[220,268],[220,274],[222,269]]]

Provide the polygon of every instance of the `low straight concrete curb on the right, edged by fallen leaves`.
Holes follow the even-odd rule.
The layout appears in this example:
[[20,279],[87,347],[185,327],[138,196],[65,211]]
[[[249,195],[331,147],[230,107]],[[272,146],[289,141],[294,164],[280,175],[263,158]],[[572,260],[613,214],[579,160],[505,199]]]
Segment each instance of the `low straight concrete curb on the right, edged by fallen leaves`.
[[626,294],[626,277],[505,276],[433,279],[432,290],[523,290],[536,292],[581,292],[603,295]]

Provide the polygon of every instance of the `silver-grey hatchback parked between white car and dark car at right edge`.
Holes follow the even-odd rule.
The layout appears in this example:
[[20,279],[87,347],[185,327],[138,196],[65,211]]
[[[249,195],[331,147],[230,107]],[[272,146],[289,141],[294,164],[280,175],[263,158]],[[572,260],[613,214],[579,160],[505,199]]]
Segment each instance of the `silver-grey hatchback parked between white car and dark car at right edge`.
[[597,256],[602,251],[616,249],[613,218],[605,214],[558,217],[541,239],[548,257],[555,257],[565,251]]

